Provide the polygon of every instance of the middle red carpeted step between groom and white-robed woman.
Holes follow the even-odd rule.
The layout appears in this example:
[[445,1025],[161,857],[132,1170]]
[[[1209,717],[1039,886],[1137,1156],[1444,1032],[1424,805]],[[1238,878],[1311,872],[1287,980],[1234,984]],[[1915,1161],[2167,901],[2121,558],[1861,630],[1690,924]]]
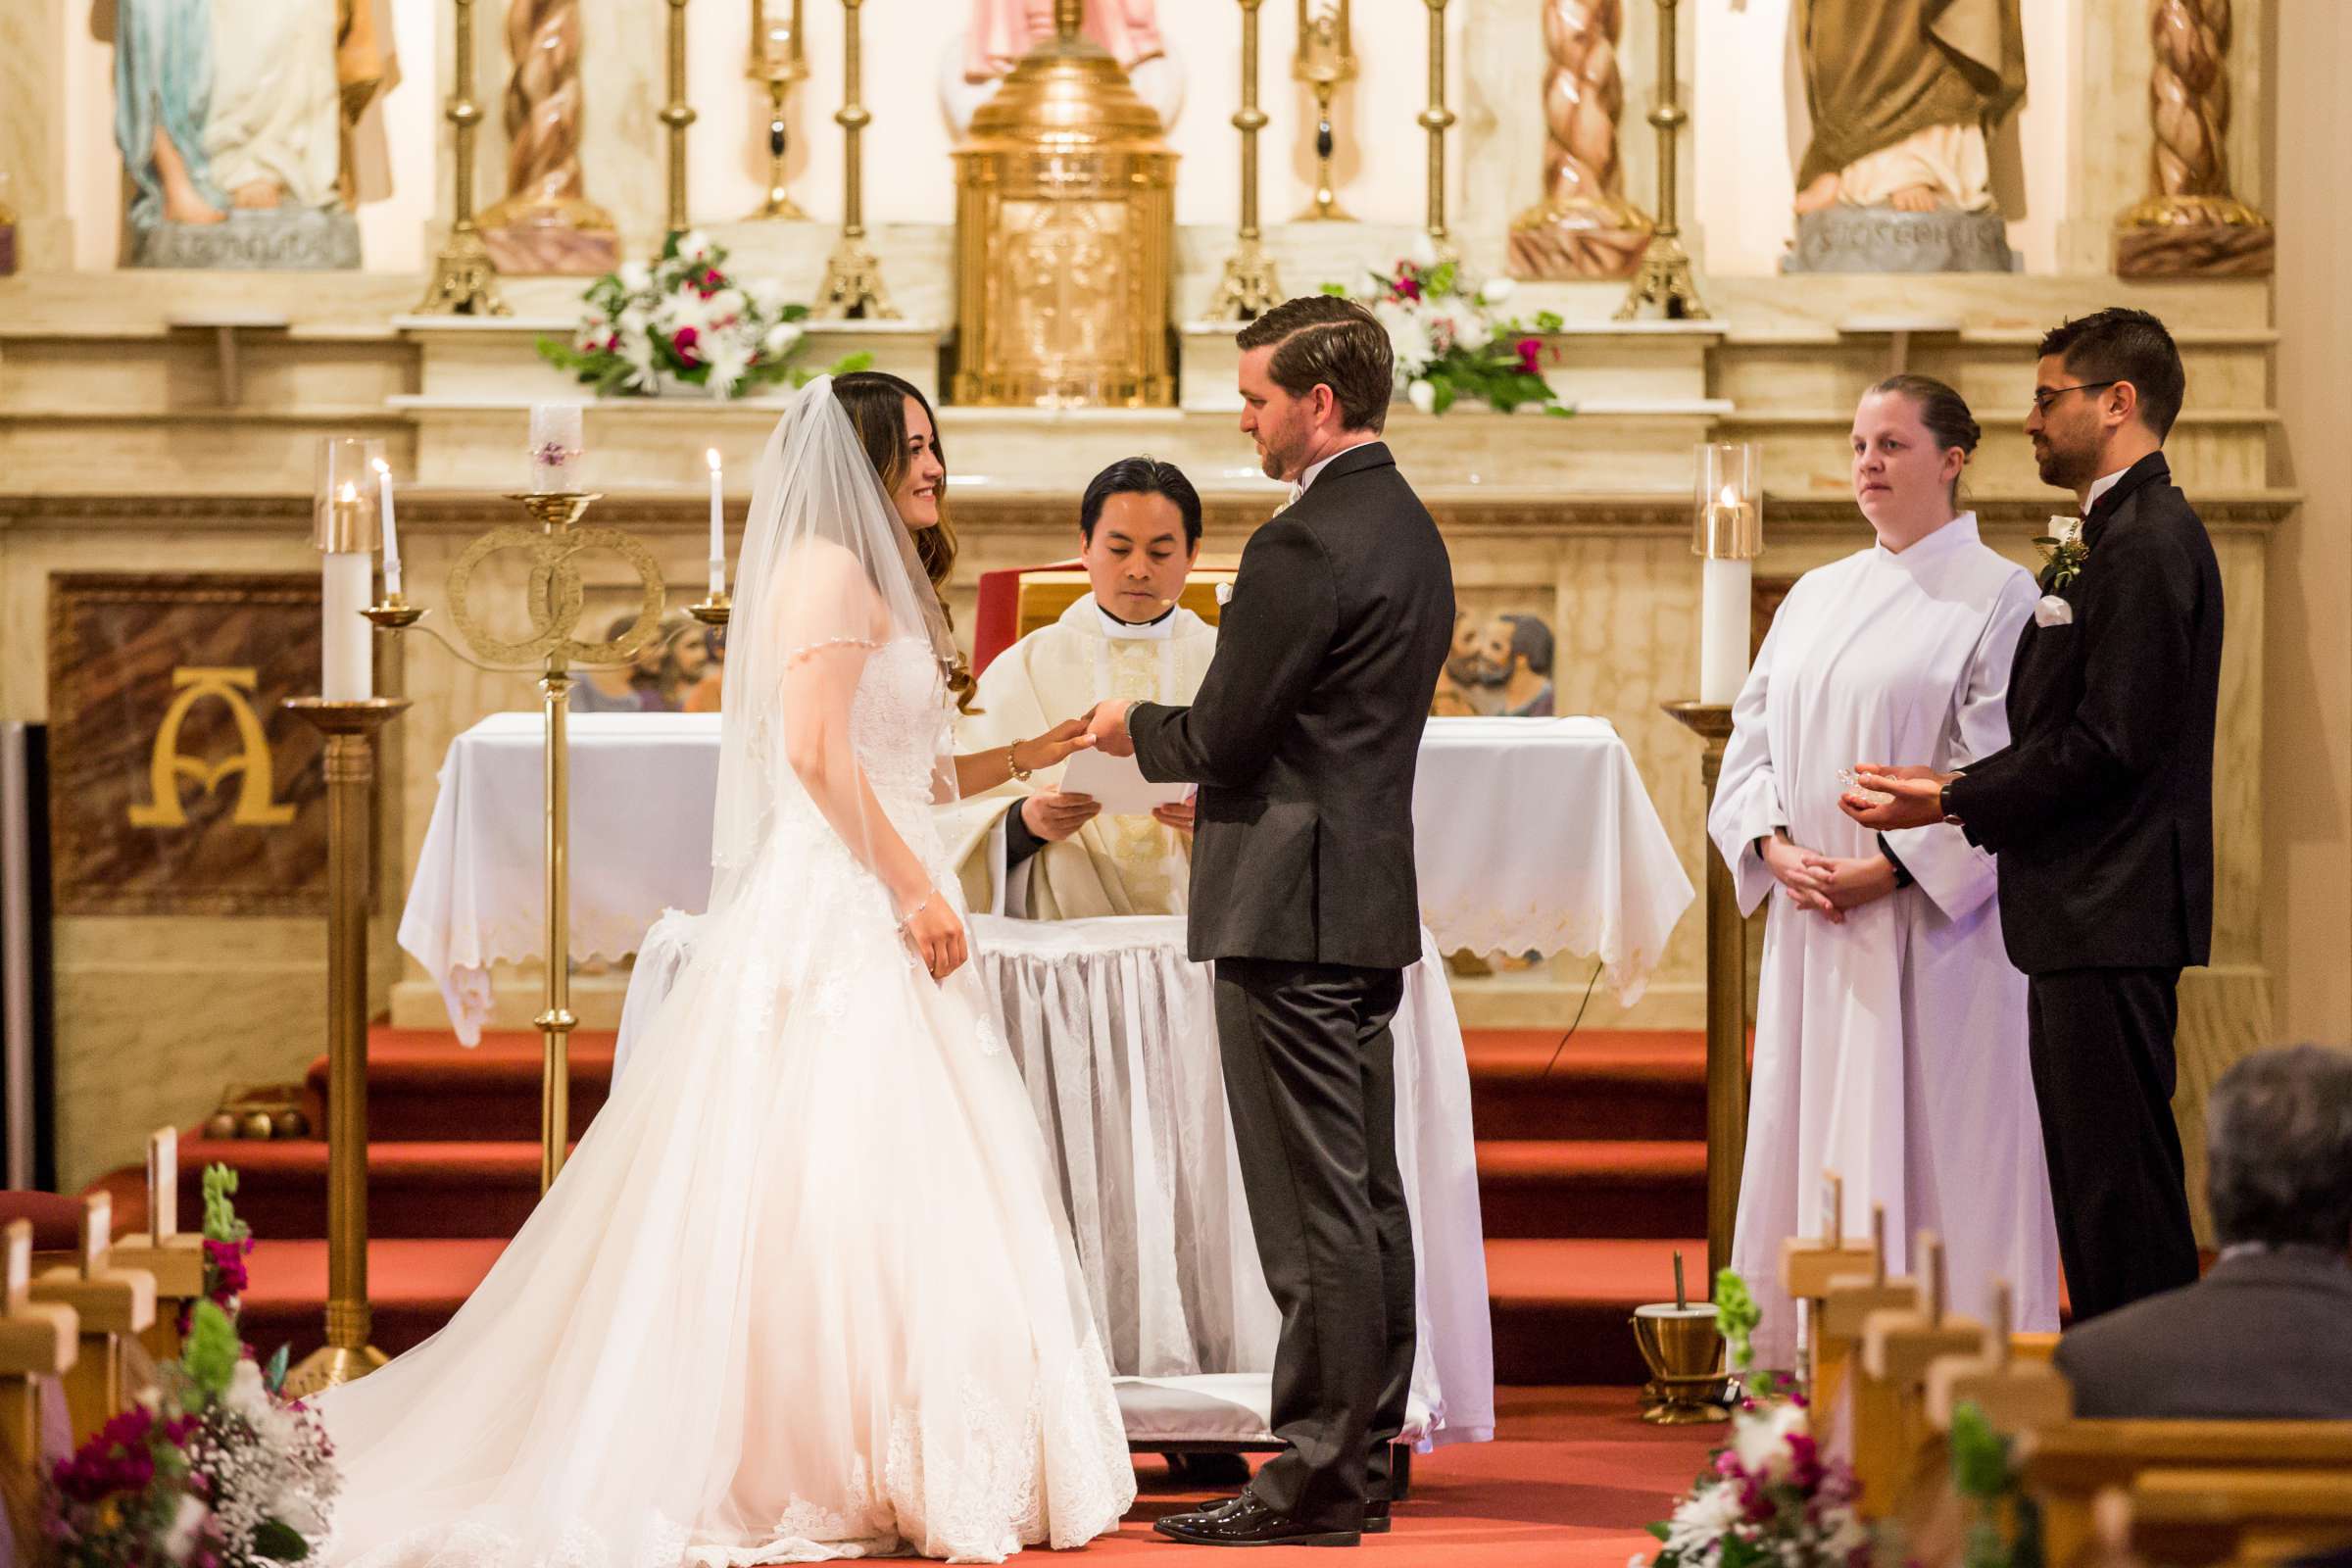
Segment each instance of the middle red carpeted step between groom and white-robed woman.
[[1705,1143],[1479,1140],[1489,1237],[1682,1237],[1708,1227]]

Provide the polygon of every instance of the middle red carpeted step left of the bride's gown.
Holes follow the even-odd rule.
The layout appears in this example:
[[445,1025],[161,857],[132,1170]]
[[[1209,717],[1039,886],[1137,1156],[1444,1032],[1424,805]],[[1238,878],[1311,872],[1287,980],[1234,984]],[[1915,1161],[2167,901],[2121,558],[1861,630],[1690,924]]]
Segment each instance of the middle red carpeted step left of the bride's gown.
[[[202,1168],[238,1171],[238,1218],[261,1241],[327,1234],[327,1145],[315,1138],[179,1145],[179,1222],[205,1222]],[[386,1239],[506,1239],[539,1204],[536,1143],[372,1143],[367,1234]],[[141,1199],[141,1208],[143,1208]]]

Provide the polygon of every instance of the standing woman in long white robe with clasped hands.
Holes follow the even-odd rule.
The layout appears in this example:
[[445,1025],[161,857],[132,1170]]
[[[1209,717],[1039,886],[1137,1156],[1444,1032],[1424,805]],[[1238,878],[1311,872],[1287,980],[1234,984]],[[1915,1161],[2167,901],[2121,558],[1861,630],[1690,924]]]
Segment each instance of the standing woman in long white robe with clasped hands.
[[1886,1208],[1889,1269],[1943,1237],[1952,1307],[1994,1279],[2016,1328],[2058,1326],[2058,1237],[2025,1060],[2025,980],[2002,952],[1994,860],[1947,825],[1870,835],[1837,809],[1853,757],[1957,769],[2009,745],[2004,696],[2032,576],[1957,512],[1976,447],[1959,395],[1893,376],[1853,416],[1853,494],[1877,543],[1804,574],[1733,705],[1708,832],[1764,929],[1748,1164],[1731,1267],[1764,1307],[1762,1366],[1792,1366],[1780,1241]]

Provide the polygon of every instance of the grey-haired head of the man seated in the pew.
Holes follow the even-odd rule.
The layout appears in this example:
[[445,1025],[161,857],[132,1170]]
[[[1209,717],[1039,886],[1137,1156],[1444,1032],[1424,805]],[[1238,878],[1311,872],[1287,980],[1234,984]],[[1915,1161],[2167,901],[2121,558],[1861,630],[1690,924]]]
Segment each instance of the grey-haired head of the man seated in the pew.
[[2223,1246],[2352,1248],[2352,1051],[2279,1046],[2220,1077],[2206,1201]]

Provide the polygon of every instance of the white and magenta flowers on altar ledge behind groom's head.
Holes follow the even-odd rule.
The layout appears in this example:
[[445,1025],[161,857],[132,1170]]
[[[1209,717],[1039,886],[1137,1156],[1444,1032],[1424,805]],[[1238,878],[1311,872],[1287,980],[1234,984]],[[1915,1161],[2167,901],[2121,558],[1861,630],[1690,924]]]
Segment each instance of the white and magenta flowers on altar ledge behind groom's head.
[[[1559,315],[1543,310],[1534,327],[1501,315],[1510,299],[1508,277],[1479,280],[1458,261],[1439,261],[1423,244],[1388,273],[1371,273],[1371,289],[1357,294],[1388,329],[1397,355],[1397,386],[1423,414],[1444,414],[1463,397],[1496,414],[1541,407],[1566,416],[1573,409],[1543,378],[1541,331],[1559,331]],[[1327,282],[1324,294],[1348,294]]]

